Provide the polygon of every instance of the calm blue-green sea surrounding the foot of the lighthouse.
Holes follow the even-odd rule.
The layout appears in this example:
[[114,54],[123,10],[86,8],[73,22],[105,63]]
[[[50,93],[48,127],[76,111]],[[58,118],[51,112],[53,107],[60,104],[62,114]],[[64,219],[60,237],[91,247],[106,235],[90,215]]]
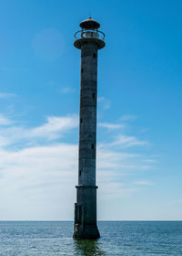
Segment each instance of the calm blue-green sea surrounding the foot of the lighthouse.
[[0,256],[182,255],[182,221],[101,221],[99,240],[73,240],[71,221],[1,221]]

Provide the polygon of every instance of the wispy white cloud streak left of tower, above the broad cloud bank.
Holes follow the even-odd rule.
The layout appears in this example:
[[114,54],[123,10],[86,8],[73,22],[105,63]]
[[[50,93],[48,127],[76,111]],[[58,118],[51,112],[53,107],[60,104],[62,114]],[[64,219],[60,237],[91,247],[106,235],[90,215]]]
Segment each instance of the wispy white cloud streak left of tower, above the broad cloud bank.
[[[1,121],[1,119],[0,119]],[[20,145],[38,144],[47,141],[53,141],[61,138],[63,134],[74,129],[78,125],[78,118],[76,115],[65,117],[50,116],[47,117],[46,123],[34,128],[25,128],[21,125],[10,125],[11,121],[5,120],[2,117],[2,123],[9,124],[8,127],[0,127],[0,142],[2,145]]]

